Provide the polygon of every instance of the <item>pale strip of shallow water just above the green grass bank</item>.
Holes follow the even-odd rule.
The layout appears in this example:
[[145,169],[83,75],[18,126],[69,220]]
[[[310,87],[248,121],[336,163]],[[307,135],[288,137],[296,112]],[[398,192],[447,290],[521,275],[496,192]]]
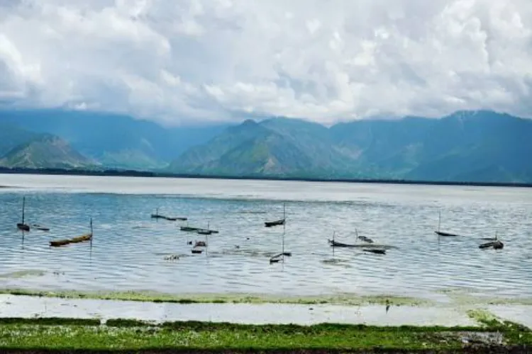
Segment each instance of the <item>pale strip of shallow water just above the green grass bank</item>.
[[[387,299],[388,300],[388,299]],[[389,305],[389,306],[388,306]],[[528,314],[528,315],[527,315]],[[172,302],[141,299],[0,295],[0,316],[137,319],[152,322],[209,321],[235,324],[327,323],[375,326],[472,326],[498,316],[532,328],[532,305],[487,303],[400,304],[366,302]]]

